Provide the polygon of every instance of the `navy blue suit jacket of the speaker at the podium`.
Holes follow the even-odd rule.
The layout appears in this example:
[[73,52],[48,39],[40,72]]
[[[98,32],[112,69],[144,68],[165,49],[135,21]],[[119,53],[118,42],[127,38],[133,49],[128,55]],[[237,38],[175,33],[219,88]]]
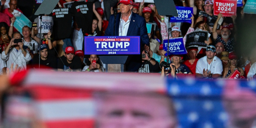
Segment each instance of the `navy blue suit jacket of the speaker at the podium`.
[[[116,15],[116,27],[115,27],[115,36],[119,35],[119,25],[120,25],[120,17],[121,13],[117,13]],[[105,30],[104,36],[113,36],[114,33],[114,22],[115,16],[111,15],[109,19],[108,28]],[[147,27],[146,27],[146,20],[142,16],[132,13],[131,21],[129,24],[129,28],[127,31],[127,36],[140,36],[140,44],[141,49],[144,49],[144,44],[149,46],[149,38],[147,35]]]

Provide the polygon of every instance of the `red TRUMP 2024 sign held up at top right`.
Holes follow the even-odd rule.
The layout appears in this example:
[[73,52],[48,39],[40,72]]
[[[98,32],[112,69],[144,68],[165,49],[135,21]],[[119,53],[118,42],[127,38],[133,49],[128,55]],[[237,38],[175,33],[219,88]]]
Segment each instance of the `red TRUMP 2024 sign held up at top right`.
[[231,17],[237,13],[237,0],[214,0],[214,15]]

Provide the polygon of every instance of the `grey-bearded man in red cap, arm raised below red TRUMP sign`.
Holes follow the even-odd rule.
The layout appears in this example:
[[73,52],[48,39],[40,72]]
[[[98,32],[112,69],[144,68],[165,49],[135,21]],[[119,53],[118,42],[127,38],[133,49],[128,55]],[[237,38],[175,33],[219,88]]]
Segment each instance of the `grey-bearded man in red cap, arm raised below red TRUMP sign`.
[[223,45],[225,46],[225,49],[227,52],[233,52],[234,50],[234,38],[230,38],[230,27],[227,25],[224,25],[221,29],[221,35],[217,34],[217,25],[218,25],[218,21],[219,19],[223,17],[222,13],[218,14],[218,18],[216,20],[216,22],[214,23],[213,29],[212,29],[212,34],[213,34],[213,40],[215,41],[215,44],[217,44],[218,42],[223,43]]

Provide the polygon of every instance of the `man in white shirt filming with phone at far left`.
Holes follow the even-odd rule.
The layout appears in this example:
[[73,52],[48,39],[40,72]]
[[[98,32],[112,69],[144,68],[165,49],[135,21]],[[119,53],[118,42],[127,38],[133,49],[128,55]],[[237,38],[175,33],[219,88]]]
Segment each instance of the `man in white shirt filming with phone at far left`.
[[1,58],[6,61],[7,68],[11,65],[18,65],[21,69],[27,68],[27,62],[31,60],[31,56],[27,49],[23,48],[22,35],[19,32],[12,34],[10,44],[2,52]]

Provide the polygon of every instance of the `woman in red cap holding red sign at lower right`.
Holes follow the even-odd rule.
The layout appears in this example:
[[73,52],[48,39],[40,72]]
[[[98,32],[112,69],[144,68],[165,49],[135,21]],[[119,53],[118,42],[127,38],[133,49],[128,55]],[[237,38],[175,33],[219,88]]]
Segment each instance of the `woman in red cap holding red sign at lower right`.
[[229,53],[229,61],[230,61],[230,66],[228,67],[228,72],[225,76],[225,74],[223,74],[223,76],[225,76],[224,78],[229,78],[233,73],[234,71],[238,70],[240,72],[240,75],[239,76],[243,76],[244,75],[244,71],[242,68],[240,67],[237,67],[237,56],[234,52],[231,52]]

